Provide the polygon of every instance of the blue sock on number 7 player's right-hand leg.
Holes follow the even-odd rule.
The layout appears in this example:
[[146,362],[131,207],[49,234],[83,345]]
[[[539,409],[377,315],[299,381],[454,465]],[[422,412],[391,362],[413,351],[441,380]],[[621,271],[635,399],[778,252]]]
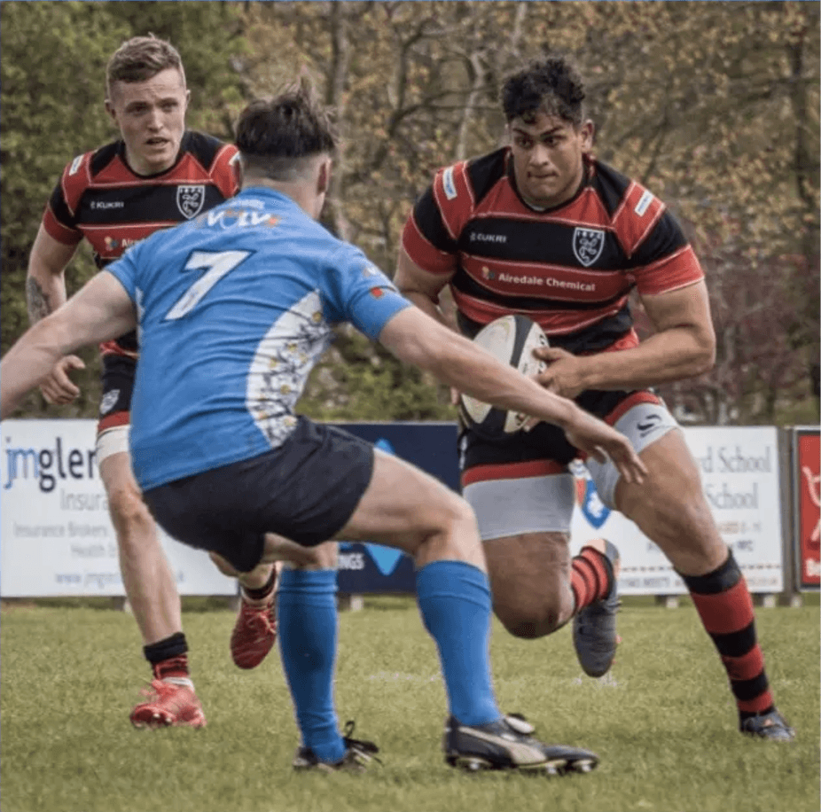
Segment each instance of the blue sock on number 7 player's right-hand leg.
[[419,611],[439,648],[450,713],[462,724],[501,717],[490,676],[488,576],[462,561],[434,561],[416,576]]

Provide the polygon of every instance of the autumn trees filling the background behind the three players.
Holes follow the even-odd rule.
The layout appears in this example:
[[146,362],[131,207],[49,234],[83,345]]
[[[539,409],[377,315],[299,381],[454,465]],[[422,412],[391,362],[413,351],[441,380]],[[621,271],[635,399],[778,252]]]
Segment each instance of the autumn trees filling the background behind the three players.
[[[193,91],[190,123],[217,136],[230,135],[245,99],[301,71],[314,77],[344,137],[325,223],[389,273],[404,218],[434,170],[502,143],[504,75],[558,50],[587,77],[598,156],[669,203],[708,273],[718,363],[664,387],[670,405],[700,422],[817,420],[817,3],[0,9],[4,347],[25,325],[20,273],[51,183],[72,154],[105,140],[105,59],[125,36],[152,30],[176,44]],[[38,94],[49,103],[36,104]],[[348,331],[303,403],[318,418],[453,417],[433,381]]]

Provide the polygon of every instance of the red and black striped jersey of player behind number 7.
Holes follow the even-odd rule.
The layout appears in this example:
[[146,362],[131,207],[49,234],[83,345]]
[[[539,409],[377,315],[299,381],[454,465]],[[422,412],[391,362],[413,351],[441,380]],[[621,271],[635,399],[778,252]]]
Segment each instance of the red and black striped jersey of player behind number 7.
[[[45,208],[43,228],[67,246],[87,239],[103,268],[154,231],[233,197],[239,188],[236,155],[232,144],[187,130],[174,166],[141,176],[129,168],[122,141],[106,144],[66,166]],[[101,349],[104,355],[136,357],[137,336],[130,332]]]

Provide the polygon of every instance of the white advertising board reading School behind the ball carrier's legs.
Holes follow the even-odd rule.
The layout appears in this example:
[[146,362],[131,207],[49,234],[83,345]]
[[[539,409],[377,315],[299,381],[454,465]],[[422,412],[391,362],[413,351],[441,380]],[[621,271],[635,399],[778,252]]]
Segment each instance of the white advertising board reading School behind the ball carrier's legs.
[[[778,435],[771,426],[685,428],[700,466],[702,486],[723,540],[750,591],[780,592],[784,585]],[[586,471],[576,478],[571,546],[609,539],[622,557],[622,595],[678,595],[687,591],[661,550],[621,513],[608,511]]]

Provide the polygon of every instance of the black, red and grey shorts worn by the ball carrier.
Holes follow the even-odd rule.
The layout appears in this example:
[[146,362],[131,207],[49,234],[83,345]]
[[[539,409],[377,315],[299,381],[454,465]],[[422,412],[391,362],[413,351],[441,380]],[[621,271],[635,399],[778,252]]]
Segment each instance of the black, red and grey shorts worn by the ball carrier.
[[[661,399],[646,392],[631,393],[598,416],[628,437],[637,453],[678,426]],[[482,539],[569,531],[575,478],[568,465],[575,449],[559,428],[541,424],[492,444],[465,441],[463,435],[461,443],[462,493],[476,513]],[[599,498],[613,508],[618,469],[609,460],[601,464],[590,458],[585,465]]]

